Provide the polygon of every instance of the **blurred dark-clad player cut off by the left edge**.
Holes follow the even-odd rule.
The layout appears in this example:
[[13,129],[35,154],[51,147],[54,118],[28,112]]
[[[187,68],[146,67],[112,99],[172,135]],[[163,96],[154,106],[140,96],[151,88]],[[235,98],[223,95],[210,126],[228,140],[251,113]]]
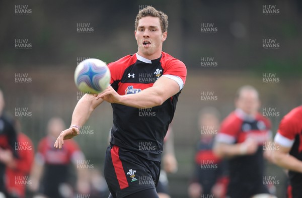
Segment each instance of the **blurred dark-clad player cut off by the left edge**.
[[5,185],[5,172],[7,166],[13,166],[14,158],[17,159],[18,154],[15,150],[17,142],[17,133],[14,128],[14,122],[4,114],[4,95],[0,89],[0,194],[8,192]]

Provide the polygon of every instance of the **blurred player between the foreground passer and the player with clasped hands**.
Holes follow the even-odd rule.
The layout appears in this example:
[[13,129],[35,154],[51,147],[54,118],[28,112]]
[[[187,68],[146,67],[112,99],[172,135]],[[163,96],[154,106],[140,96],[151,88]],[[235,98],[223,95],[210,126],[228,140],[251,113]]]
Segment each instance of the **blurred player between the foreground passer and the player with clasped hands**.
[[[213,194],[216,198],[225,197],[228,182],[226,162],[215,156],[212,151],[214,137],[219,129],[219,118],[218,110],[213,107],[206,107],[199,113],[198,128],[201,136],[197,143],[194,174],[188,187],[190,198],[199,198],[201,194]],[[204,168],[201,168],[202,165]]]

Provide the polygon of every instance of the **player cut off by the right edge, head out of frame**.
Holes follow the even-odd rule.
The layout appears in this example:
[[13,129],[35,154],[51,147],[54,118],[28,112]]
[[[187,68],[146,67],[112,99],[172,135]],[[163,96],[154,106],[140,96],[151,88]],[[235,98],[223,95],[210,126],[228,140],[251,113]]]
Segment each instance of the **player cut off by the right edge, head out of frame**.
[[[275,136],[274,162],[289,170],[292,198],[302,197],[302,106],[283,117]],[[288,155],[289,154],[289,155]]]

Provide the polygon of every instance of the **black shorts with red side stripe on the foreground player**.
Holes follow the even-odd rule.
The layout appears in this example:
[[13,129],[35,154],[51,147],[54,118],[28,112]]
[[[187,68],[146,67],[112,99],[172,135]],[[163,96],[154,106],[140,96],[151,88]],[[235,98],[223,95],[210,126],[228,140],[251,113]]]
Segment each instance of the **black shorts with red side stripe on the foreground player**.
[[160,172],[161,162],[144,159],[115,145],[107,148],[104,176],[109,191],[118,198],[156,188]]

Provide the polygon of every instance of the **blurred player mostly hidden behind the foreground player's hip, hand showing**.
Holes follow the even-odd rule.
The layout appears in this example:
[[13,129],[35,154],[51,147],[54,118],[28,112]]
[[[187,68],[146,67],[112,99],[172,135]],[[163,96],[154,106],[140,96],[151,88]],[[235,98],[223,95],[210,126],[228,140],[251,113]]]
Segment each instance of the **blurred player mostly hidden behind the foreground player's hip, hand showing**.
[[174,152],[174,133],[171,124],[164,138],[164,153],[162,157],[163,169],[160,173],[160,179],[156,191],[160,198],[170,198],[169,181],[167,173],[177,171],[177,160]]

